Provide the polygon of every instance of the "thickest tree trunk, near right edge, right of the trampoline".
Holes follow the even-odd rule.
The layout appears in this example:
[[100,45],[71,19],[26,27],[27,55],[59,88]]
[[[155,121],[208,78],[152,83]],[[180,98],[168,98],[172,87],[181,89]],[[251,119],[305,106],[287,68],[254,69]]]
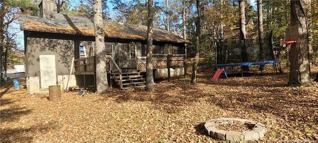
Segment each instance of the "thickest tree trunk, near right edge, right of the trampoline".
[[291,0],[291,26],[298,26],[299,39],[291,45],[288,85],[312,86],[308,46],[308,0]]

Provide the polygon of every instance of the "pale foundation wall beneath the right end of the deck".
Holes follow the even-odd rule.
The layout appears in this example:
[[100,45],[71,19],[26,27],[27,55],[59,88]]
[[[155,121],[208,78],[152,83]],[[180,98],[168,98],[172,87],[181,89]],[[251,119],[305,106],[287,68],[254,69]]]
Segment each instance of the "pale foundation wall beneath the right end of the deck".
[[[170,68],[171,77],[180,75],[184,75],[184,68]],[[168,77],[168,69],[157,69],[154,76],[155,78]]]

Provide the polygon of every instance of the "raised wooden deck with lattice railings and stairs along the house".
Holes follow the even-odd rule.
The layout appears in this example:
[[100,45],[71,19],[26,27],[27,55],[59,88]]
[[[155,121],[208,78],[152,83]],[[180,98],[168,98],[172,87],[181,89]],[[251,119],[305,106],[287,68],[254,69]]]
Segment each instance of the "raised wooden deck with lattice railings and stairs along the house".
[[[110,74],[110,82],[114,80],[121,89],[134,88],[134,87],[144,87],[146,84],[146,79],[141,75],[141,72],[146,72],[146,57],[136,58],[136,69],[123,72],[119,68],[118,64],[111,56],[106,56],[106,71]],[[75,74],[83,75],[85,80],[85,75],[93,75],[94,77],[94,88],[96,88],[96,65],[95,57],[80,58],[74,60]],[[114,69],[113,69],[114,68]],[[185,68],[186,69],[186,55],[153,55],[153,69],[167,69],[168,71],[168,81],[170,80],[170,68]],[[186,70],[184,70],[184,75],[186,75]],[[112,82],[110,84],[112,86]],[[84,81],[85,86],[85,81]]]

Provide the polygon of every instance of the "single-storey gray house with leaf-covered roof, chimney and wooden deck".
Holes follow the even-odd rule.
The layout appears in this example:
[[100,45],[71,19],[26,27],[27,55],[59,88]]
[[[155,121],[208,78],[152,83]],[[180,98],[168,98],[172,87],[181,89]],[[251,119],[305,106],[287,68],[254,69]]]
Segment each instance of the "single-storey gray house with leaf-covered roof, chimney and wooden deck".
[[[66,89],[67,83],[95,88],[92,19],[54,13],[54,4],[54,1],[42,0],[40,17],[17,17],[24,31],[27,91],[48,92],[50,85],[57,84]],[[145,86],[147,26],[104,21],[104,27],[110,85],[122,89]],[[186,44],[190,41],[163,29],[153,31],[155,78],[185,75]],[[75,71],[72,70],[73,57]]]

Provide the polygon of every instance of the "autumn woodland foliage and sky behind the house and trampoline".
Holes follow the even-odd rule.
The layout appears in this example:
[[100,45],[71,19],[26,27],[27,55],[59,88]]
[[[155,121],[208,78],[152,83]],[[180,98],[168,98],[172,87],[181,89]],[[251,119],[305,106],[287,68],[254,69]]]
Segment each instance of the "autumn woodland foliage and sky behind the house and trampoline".
[[[92,0],[55,0],[56,12],[92,18]],[[282,45],[286,28],[290,25],[290,0],[262,0],[264,33],[272,33],[272,45],[276,59],[283,66],[289,66],[289,47]],[[16,15],[38,15],[41,0],[0,0],[1,5],[1,74],[13,65],[24,64],[23,35]],[[147,25],[146,0],[102,0],[103,17],[107,20],[126,24]],[[154,26],[166,29],[175,35],[195,42],[197,17],[195,0],[154,0]],[[245,17],[253,25],[248,27],[249,47],[257,48],[258,19],[256,0],[245,2]],[[309,9],[309,46],[311,63],[317,66],[318,54],[318,1],[312,0]],[[239,27],[239,2],[237,0],[202,0],[200,4],[201,35],[199,66],[210,68],[216,63],[216,41],[220,40],[221,30],[233,31]],[[221,28],[222,27],[222,28]],[[236,35],[233,35],[236,36]],[[222,37],[221,37],[222,38]],[[187,48],[188,58],[194,56],[195,45]],[[6,57],[7,56],[7,57]]]

